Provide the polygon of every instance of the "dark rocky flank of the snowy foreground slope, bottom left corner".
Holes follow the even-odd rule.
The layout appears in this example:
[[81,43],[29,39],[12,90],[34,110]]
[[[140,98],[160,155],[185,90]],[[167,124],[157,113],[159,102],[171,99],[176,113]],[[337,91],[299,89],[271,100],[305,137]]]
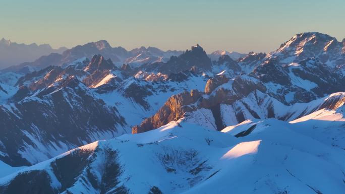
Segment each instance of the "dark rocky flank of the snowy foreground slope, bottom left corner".
[[[102,160],[97,161],[97,158]],[[78,148],[47,165],[51,169],[17,174],[9,184],[0,185],[0,193],[74,193],[80,181],[97,193],[129,193],[119,180],[123,171],[117,151],[105,146]],[[57,185],[52,184],[51,177],[56,177],[53,181],[58,182]]]

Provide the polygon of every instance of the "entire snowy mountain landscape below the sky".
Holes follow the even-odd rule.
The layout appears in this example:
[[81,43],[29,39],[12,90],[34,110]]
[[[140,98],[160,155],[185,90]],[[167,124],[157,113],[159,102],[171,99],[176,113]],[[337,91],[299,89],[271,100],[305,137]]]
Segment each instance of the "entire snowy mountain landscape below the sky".
[[345,38],[48,47],[0,72],[1,194],[345,193]]

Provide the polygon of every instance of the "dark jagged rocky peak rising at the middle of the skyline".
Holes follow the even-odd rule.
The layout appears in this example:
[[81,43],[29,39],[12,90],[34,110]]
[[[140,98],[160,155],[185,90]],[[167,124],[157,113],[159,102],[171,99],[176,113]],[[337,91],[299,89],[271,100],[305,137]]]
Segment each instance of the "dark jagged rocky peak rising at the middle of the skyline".
[[180,56],[171,56],[167,62],[144,64],[141,68],[146,72],[160,72],[170,75],[190,70],[193,66],[197,67],[199,71],[211,70],[211,59],[199,45],[193,46],[191,50],[186,50]]

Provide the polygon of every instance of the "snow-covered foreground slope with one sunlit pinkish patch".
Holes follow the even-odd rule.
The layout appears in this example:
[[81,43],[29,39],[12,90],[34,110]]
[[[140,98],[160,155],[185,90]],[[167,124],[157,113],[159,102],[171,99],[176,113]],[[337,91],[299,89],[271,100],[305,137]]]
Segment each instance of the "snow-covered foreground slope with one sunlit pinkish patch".
[[222,132],[171,121],[22,169],[0,179],[0,193],[37,186],[44,193],[344,193],[338,105],[290,122],[246,120]]

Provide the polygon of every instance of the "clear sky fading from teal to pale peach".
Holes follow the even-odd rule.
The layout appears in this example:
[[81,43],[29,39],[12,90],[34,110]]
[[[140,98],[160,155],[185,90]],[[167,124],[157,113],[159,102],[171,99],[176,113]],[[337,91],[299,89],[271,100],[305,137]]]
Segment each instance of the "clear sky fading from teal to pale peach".
[[269,52],[300,32],[345,37],[345,1],[0,0],[0,38],[73,47],[100,39],[132,49]]

